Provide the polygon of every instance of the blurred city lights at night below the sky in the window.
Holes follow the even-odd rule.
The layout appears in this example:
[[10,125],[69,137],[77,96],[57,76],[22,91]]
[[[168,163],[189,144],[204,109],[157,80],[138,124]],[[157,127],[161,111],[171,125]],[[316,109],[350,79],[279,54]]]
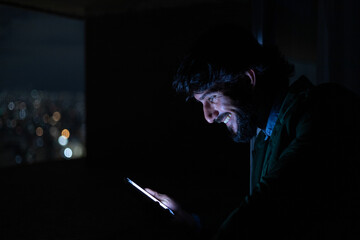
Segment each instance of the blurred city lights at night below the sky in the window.
[[85,156],[84,94],[1,92],[0,112],[2,166]]

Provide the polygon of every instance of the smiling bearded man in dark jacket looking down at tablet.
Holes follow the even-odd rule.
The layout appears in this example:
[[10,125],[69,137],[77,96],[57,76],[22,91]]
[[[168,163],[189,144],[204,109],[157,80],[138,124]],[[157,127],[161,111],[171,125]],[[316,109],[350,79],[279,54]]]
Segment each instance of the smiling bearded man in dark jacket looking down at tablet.
[[[276,48],[237,26],[205,33],[177,71],[174,88],[202,104],[206,121],[224,123],[236,142],[255,141],[249,194],[218,239],[358,237],[359,97],[306,77],[289,86],[292,74]],[[147,191],[198,224],[167,195]]]

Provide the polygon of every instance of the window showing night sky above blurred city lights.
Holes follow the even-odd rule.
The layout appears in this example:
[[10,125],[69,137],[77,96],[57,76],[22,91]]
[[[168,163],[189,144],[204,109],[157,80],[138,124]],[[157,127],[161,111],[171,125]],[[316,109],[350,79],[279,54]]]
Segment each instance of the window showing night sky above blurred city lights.
[[0,167],[86,155],[84,22],[0,5]]

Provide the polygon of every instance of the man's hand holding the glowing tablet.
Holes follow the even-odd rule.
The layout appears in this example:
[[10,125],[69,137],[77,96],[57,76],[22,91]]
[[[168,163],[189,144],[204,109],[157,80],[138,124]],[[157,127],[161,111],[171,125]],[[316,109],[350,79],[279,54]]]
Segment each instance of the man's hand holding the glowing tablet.
[[199,220],[196,220],[194,215],[183,210],[180,205],[171,197],[165,194],[158,193],[150,188],[145,188],[145,191],[150,193],[152,196],[160,200],[168,208],[170,208],[175,213],[175,221],[187,225],[190,228],[200,230]]

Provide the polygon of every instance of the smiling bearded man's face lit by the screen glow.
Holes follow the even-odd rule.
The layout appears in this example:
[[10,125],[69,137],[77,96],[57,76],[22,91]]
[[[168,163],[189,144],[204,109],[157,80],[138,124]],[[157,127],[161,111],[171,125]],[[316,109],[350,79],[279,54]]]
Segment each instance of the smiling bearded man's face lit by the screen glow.
[[204,117],[209,123],[224,123],[235,142],[249,142],[256,134],[254,107],[240,106],[220,91],[194,94],[203,105]]

